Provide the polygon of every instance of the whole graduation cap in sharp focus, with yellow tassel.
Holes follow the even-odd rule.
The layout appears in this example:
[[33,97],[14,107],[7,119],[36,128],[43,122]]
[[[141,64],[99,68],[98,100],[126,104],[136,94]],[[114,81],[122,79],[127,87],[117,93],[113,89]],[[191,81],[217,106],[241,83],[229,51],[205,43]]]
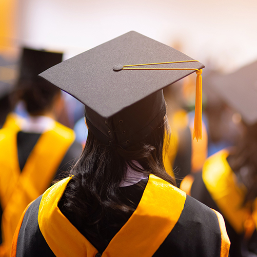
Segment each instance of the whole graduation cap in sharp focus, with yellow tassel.
[[163,122],[164,87],[196,71],[201,91],[202,68],[172,47],[130,31],[39,76],[86,106],[87,125],[98,140],[127,148]]

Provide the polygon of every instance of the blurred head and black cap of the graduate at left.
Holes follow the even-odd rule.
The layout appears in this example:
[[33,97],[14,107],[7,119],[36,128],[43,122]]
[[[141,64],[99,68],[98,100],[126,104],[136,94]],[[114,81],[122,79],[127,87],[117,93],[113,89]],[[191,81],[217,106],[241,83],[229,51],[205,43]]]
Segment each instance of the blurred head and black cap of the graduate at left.
[[24,48],[15,96],[25,103],[30,115],[45,115],[61,101],[61,90],[37,75],[62,61],[62,53]]

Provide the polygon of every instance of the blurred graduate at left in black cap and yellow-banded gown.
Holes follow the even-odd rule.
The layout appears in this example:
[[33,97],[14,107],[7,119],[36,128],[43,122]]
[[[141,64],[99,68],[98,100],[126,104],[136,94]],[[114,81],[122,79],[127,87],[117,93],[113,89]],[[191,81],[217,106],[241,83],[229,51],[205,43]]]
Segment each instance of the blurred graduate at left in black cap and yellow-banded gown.
[[22,50],[14,94],[29,115],[22,122],[13,114],[8,116],[0,130],[0,256],[10,255],[13,234],[26,206],[82,152],[74,142],[74,132],[55,121],[62,110],[61,90],[37,77],[61,61],[62,53]]

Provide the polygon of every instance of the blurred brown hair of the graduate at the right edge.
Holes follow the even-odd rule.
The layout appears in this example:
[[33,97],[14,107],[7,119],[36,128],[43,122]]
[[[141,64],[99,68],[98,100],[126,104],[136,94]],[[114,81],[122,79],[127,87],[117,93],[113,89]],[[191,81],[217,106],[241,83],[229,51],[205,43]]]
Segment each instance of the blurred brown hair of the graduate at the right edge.
[[243,204],[257,197],[257,123],[245,126],[246,133],[228,157],[231,169],[247,188]]

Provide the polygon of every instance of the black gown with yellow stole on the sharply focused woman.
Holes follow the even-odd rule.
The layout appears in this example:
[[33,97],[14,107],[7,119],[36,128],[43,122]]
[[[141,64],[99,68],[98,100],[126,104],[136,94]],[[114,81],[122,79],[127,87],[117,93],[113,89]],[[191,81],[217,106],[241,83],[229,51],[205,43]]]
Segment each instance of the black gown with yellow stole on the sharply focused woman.
[[[143,187],[139,187],[139,185]],[[55,195],[51,197],[52,200],[55,198],[55,200],[53,200],[55,201],[55,205],[60,201],[63,194],[63,191],[59,192],[57,188],[60,188],[60,186],[55,184],[48,190],[50,194],[53,193],[53,195]],[[141,190],[139,190],[139,188],[141,188]],[[50,192],[51,190],[52,192]],[[98,256],[98,251],[103,254],[102,256],[228,256],[230,243],[221,214],[186,195],[180,189],[171,186],[160,178],[150,175],[147,184],[146,181],[143,180],[136,185],[121,188],[120,191],[122,197],[138,202],[138,205],[134,213],[125,221],[124,226],[120,230],[117,229],[117,231],[113,231],[113,228],[110,227],[110,234],[113,233],[113,238],[110,236],[108,239],[109,244],[105,249],[101,249],[101,245],[93,246],[93,244],[90,244],[89,237],[87,239],[84,238],[84,236],[63,217],[64,215],[61,214],[60,209],[57,207],[54,207],[58,216],[55,221],[58,223],[63,219],[65,225],[62,226],[58,224],[57,226],[57,224],[51,224],[51,226],[56,227],[53,232],[51,232],[50,230],[52,230],[52,228],[48,227],[49,223],[51,223],[49,219],[56,213],[52,216],[52,214],[49,214],[51,211],[44,209],[45,201],[43,199],[46,196],[43,195],[38,197],[38,199],[28,207],[24,218],[21,220],[14,236],[12,256],[55,256],[53,251],[58,253],[59,248],[67,247],[66,244],[71,244],[71,247],[67,248],[67,255],[65,254],[65,256],[72,256],[72,254],[78,256],[81,252],[75,253],[75,251],[82,246],[80,243],[76,244],[76,241],[71,242],[73,238],[76,238],[77,241],[84,240],[84,247],[86,244],[88,248],[92,248],[92,250],[85,250],[82,247],[82,251],[85,250],[88,254],[87,256],[90,257]],[[158,193],[156,194],[156,192]],[[60,194],[60,199],[56,200],[56,197],[59,197],[56,196],[56,193],[58,195]],[[48,196],[50,194],[46,193]],[[54,204],[51,203],[51,208],[53,205]],[[144,206],[144,214],[141,213],[139,215],[140,211],[142,212],[142,206]],[[149,208],[149,210],[145,213],[145,209],[147,208]],[[159,214],[154,214],[158,211],[160,211]],[[42,219],[42,213],[43,216],[47,216],[47,218],[45,217],[45,221],[47,221],[45,223],[42,222],[42,220],[44,221],[45,219]],[[136,220],[137,215],[140,216],[139,220]],[[162,217],[163,215],[166,218]],[[172,220],[172,222],[163,224],[164,220]],[[144,222],[145,225],[142,225],[141,223]],[[149,229],[148,226],[150,227],[149,233],[147,233]],[[60,228],[61,230],[68,230],[60,233],[60,231],[58,231]],[[131,230],[129,228],[133,229]],[[58,233],[60,234],[58,238],[56,238]],[[71,236],[71,238],[67,239],[69,236]],[[122,241],[121,238],[125,238],[125,240]],[[131,245],[130,241],[133,243],[134,238],[138,240]],[[119,240],[121,242],[119,242]],[[53,243],[53,241],[55,243]],[[52,248],[48,244],[50,244]],[[112,248],[115,247],[118,248],[118,250],[116,249],[113,253]],[[137,250],[133,252],[133,248]],[[108,255],[108,252],[111,252],[111,254]],[[56,254],[56,256],[62,256],[62,254]]]

